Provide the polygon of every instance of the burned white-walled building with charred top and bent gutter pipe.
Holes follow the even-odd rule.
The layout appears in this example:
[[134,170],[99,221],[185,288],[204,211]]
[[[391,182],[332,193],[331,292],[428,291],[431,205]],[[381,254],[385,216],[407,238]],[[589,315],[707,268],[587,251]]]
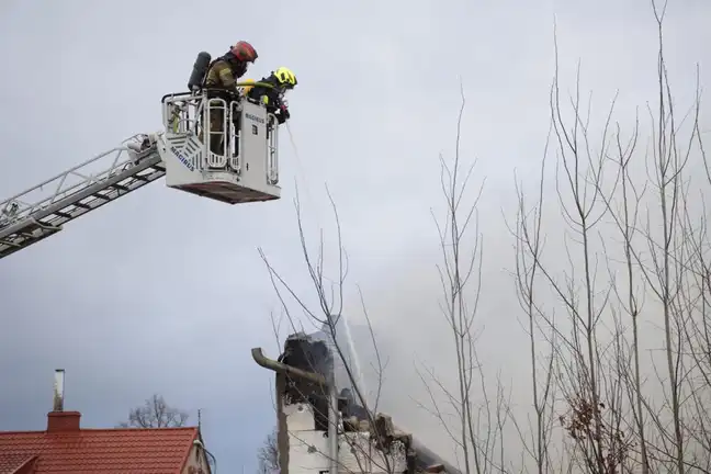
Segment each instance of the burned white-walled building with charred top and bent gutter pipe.
[[293,334],[276,360],[252,349],[275,372],[281,474],[460,474],[390,416],[372,413],[354,348],[336,343],[334,332]]

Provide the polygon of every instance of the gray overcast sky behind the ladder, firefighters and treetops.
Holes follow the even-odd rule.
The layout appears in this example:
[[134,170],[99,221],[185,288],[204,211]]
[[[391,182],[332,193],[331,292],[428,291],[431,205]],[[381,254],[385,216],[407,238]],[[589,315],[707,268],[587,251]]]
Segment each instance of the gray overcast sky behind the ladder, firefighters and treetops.
[[[684,104],[695,64],[708,64],[710,14],[707,1],[670,1],[668,61]],[[0,429],[45,426],[52,371],[61,366],[66,407],[81,410],[84,426],[113,426],[159,392],[193,421],[203,409],[221,470],[253,470],[273,415],[271,374],[249,349],[275,353],[269,314],[279,311],[257,247],[308,290],[294,180],[312,228],[332,229],[324,183],[334,194],[349,281],[362,285],[382,343],[393,353],[400,346],[391,382],[411,373],[414,352],[436,364],[437,343],[425,342],[449,336],[435,314],[429,210],[441,210],[438,154],[453,148],[459,76],[462,151],[487,179],[486,343],[516,376],[524,354],[496,349],[522,337],[510,316],[501,210],[512,217],[514,169],[535,172],[543,149],[554,15],[563,80],[572,87],[580,58],[600,113],[618,88],[621,120],[654,100],[654,19],[644,0],[0,2],[0,199],[158,129],[160,97],[185,89],[200,50],[215,56],[249,40],[260,54],[249,77],[283,65],[300,80],[290,98],[295,147],[281,135],[283,200],[230,207],[159,182],[0,262]],[[708,82],[709,70],[701,75]],[[357,312],[358,300],[347,308]]]

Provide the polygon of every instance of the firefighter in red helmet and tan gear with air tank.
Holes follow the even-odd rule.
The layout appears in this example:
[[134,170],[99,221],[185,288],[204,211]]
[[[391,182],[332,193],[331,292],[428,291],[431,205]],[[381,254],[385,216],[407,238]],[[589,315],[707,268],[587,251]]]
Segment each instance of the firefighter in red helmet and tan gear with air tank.
[[[228,104],[238,95],[237,79],[247,72],[250,63],[255,63],[259,55],[255,47],[246,41],[240,41],[229,50],[215,59],[207,69],[205,88],[211,89],[208,97],[224,99]],[[210,128],[215,134],[211,137],[210,148],[213,153],[224,154],[224,140],[217,132],[223,132],[224,110],[214,108],[210,114]],[[212,135],[212,134],[211,134]]]

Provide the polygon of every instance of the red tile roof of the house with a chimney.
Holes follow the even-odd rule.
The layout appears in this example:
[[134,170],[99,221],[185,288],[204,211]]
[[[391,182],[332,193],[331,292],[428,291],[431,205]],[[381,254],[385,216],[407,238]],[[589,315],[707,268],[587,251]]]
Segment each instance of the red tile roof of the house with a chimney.
[[195,427],[0,432],[0,474],[178,474],[196,438]]

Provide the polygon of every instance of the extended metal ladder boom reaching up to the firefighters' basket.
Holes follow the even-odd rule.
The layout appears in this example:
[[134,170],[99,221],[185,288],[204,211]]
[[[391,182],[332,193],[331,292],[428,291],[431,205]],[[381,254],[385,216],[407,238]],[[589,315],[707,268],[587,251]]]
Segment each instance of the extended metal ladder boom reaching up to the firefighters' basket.
[[135,135],[122,146],[10,198],[0,203],[0,259],[165,173],[155,144],[146,135]]

